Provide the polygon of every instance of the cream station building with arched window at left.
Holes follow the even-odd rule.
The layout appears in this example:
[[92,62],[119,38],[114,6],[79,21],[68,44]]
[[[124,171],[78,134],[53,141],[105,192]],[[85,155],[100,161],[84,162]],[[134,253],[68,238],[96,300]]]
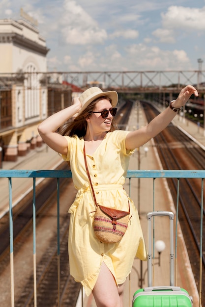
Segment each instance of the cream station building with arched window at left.
[[21,19],[0,20],[1,161],[41,146],[37,126],[71,102],[71,88],[47,77],[46,40],[37,21],[21,9]]

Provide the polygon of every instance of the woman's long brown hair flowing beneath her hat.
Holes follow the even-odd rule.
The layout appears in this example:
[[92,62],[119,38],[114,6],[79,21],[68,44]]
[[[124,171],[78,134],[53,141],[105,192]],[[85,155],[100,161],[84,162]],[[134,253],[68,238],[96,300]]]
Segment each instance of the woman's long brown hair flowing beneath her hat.
[[[87,121],[86,118],[89,118],[89,116],[92,114],[92,111],[94,110],[95,104],[103,99],[107,99],[111,102],[110,98],[107,96],[101,96],[97,99],[95,99],[93,102],[90,102],[88,107],[79,115],[77,115],[74,119],[70,119],[67,122],[65,122],[61,127],[58,129],[58,133],[61,135],[68,135],[73,136],[74,134],[78,135],[78,137],[82,137],[86,135],[87,131]],[[116,121],[112,120],[110,132],[117,130],[117,124]]]

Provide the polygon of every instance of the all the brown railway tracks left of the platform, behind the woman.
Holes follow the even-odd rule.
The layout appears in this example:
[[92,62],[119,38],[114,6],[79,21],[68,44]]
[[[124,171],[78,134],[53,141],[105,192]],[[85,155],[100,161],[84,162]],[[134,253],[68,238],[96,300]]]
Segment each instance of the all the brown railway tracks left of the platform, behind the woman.
[[[122,103],[116,116],[117,126],[119,128],[126,127],[129,118],[132,101]],[[67,164],[62,163],[59,169],[66,169]],[[75,198],[76,191],[73,188],[71,179],[60,180],[60,254],[57,253],[57,227],[55,230],[50,230],[52,222],[45,223],[45,230],[51,231],[52,236],[47,247],[43,247],[44,253],[41,259],[37,262],[36,267],[36,287],[37,287],[37,306],[52,307],[58,306],[58,300],[61,307],[75,307],[78,299],[80,284],[76,283],[69,274],[69,261],[67,251],[69,216],[67,210]],[[56,204],[56,179],[47,179],[43,181],[41,188],[36,193],[36,228],[44,223],[44,220],[49,216],[55,215]],[[68,200],[69,195],[69,200]],[[32,241],[32,192],[27,199],[24,199],[19,205],[16,205],[14,210],[14,254],[21,253],[22,246],[27,246]],[[57,220],[57,216],[54,218]],[[6,266],[9,266],[9,219],[8,215],[4,216],[4,222],[0,229],[0,273],[3,272]],[[38,231],[38,230],[37,230]],[[42,232],[42,229],[39,230]],[[6,239],[7,238],[7,239]],[[29,248],[28,248],[29,249]],[[26,257],[26,255],[23,255]],[[59,275],[58,275],[59,271]],[[34,290],[33,276],[31,273],[24,277],[23,290],[20,291],[15,298],[15,307],[31,307],[34,306]],[[59,286],[59,287],[58,287]],[[8,306],[10,305],[10,301]]]

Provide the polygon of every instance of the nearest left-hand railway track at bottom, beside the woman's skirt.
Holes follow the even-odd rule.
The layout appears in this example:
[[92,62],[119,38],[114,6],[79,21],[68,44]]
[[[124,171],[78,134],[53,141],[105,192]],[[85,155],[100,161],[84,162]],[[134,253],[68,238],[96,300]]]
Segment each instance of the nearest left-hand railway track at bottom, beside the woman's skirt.
[[[46,250],[37,266],[37,303],[38,307],[58,306],[58,297],[60,297],[60,306],[76,306],[80,284],[76,283],[69,274],[69,259],[67,250],[67,237],[69,229],[69,217],[63,217],[60,223],[60,254],[58,262],[57,240],[52,238],[49,244],[49,250]],[[58,265],[60,266],[60,275],[58,276]],[[59,283],[59,288],[58,288]],[[34,306],[33,298],[33,278],[29,280],[24,287],[22,295],[15,304],[16,307]]]

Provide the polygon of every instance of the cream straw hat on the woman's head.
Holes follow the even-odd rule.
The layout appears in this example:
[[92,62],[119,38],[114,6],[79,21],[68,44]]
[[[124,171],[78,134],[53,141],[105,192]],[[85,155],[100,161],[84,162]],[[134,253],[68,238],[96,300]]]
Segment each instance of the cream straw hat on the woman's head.
[[87,106],[89,105],[90,102],[92,102],[93,100],[95,100],[95,99],[97,99],[101,96],[109,97],[112,101],[112,106],[113,107],[116,106],[117,101],[118,101],[118,95],[117,95],[116,91],[103,92],[99,87],[93,86],[93,87],[88,88],[79,97],[82,108],[80,109],[78,115],[80,113],[82,113],[87,108]]

